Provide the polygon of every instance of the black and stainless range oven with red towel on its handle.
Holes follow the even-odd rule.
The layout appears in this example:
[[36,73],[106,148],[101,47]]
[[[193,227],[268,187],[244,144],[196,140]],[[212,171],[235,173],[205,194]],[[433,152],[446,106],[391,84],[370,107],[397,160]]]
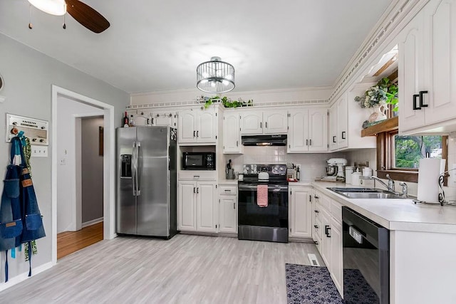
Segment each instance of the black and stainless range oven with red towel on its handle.
[[[244,179],[238,182],[238,239],[287,243],[289,203],[286,165],[247,166],[251,167],[244,169]],[[267,206],[259,206],[259,185],[267,187]]]

